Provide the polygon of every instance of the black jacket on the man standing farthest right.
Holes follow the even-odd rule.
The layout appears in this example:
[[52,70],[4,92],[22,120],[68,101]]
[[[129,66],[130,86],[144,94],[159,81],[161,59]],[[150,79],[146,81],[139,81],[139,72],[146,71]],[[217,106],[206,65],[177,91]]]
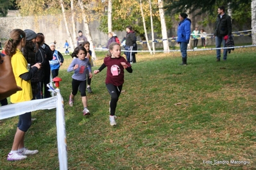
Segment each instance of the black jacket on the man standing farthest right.
[[220,17],[217,16],[214,36],[230,36],[232,34],[232,23],[231,18],[226,13]]

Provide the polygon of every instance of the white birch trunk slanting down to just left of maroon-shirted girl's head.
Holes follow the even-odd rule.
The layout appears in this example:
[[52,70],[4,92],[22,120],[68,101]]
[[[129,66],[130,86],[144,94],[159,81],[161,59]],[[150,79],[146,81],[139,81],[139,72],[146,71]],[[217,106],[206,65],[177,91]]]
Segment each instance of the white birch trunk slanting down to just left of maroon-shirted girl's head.
[[96,60],[96,54],[95,54],[95,50],[94,50],[94,45],[92,42],[92,36],[90,35],[90,28],[89,28],[89,24],[88,24],[88,20],[87,20],[87,16],[85,15],[85,7],[83,6],[83,2],[81,0],[78,0],[78,5],[81,8],[82,11],[82,17],[83,17],[83,24],[85,26],[85,35],[87,37],[87,40],[90,42],[90,50],[92,51],[92,59]]

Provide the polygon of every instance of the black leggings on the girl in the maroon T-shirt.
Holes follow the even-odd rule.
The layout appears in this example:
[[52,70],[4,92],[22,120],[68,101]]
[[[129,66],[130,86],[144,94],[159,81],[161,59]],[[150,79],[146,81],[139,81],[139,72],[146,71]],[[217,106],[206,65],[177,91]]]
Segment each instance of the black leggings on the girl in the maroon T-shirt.
[[117,106],[117,101],[118,98],[121,94],[123,84],[121,86],[114,86],[113,84],[106,84],[108,93],[111,96],[110,100],[110,115],[114,116],[115,115],[115,108]]

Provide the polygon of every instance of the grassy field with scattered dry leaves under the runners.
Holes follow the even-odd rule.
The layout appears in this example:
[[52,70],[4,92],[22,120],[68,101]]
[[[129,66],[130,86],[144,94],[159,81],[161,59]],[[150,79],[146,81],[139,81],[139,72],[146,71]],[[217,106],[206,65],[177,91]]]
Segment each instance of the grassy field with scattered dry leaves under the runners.
[[[235,49],[226,62],[216,62],[215,51],[188,55],[189,65],[180,66],[180,52],[137,54],[133,73],[125,73],[117,127],[108,121],[106,69],[94,75],[94,93],[87,94],[92,115],[82,115],[79,94],[69,107],[71,57],[65,56],[59,76],[69,169],[255,169],[255,48]],[[1,120],[0,169],[59,169],[55,112],[32,113],[37,120],[25,143],[39,153],[21,162],[6,161],[18,118]]]

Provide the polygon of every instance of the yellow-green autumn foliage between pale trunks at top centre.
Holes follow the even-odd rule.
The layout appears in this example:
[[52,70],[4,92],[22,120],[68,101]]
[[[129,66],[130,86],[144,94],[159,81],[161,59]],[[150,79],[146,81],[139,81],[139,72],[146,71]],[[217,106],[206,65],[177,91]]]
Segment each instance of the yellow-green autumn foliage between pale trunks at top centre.
[[[153,13],[153,24],[155,33],[159,33],[158,36],[162,36],[160,17],[157,7],[157,1],[152,1],[152,13]],[[146,22],[146,29],[151,30],[150,16],[149,16],[149,4],[148,1],[142,1],[142,8],[144,10],[144,18]],[[107,33],[107,15],[103,15],[101,18],[101,24],[99,29],[104,33]],[[133,29],[138,35],[144,38],[144,27],[142,24],[141,10],[139,1],[114,1],[112,6],[112,30],[124,31],[126,26],[133,26]],[[171,17],[166,16],[166,25],[168,28],[172,27]]]

